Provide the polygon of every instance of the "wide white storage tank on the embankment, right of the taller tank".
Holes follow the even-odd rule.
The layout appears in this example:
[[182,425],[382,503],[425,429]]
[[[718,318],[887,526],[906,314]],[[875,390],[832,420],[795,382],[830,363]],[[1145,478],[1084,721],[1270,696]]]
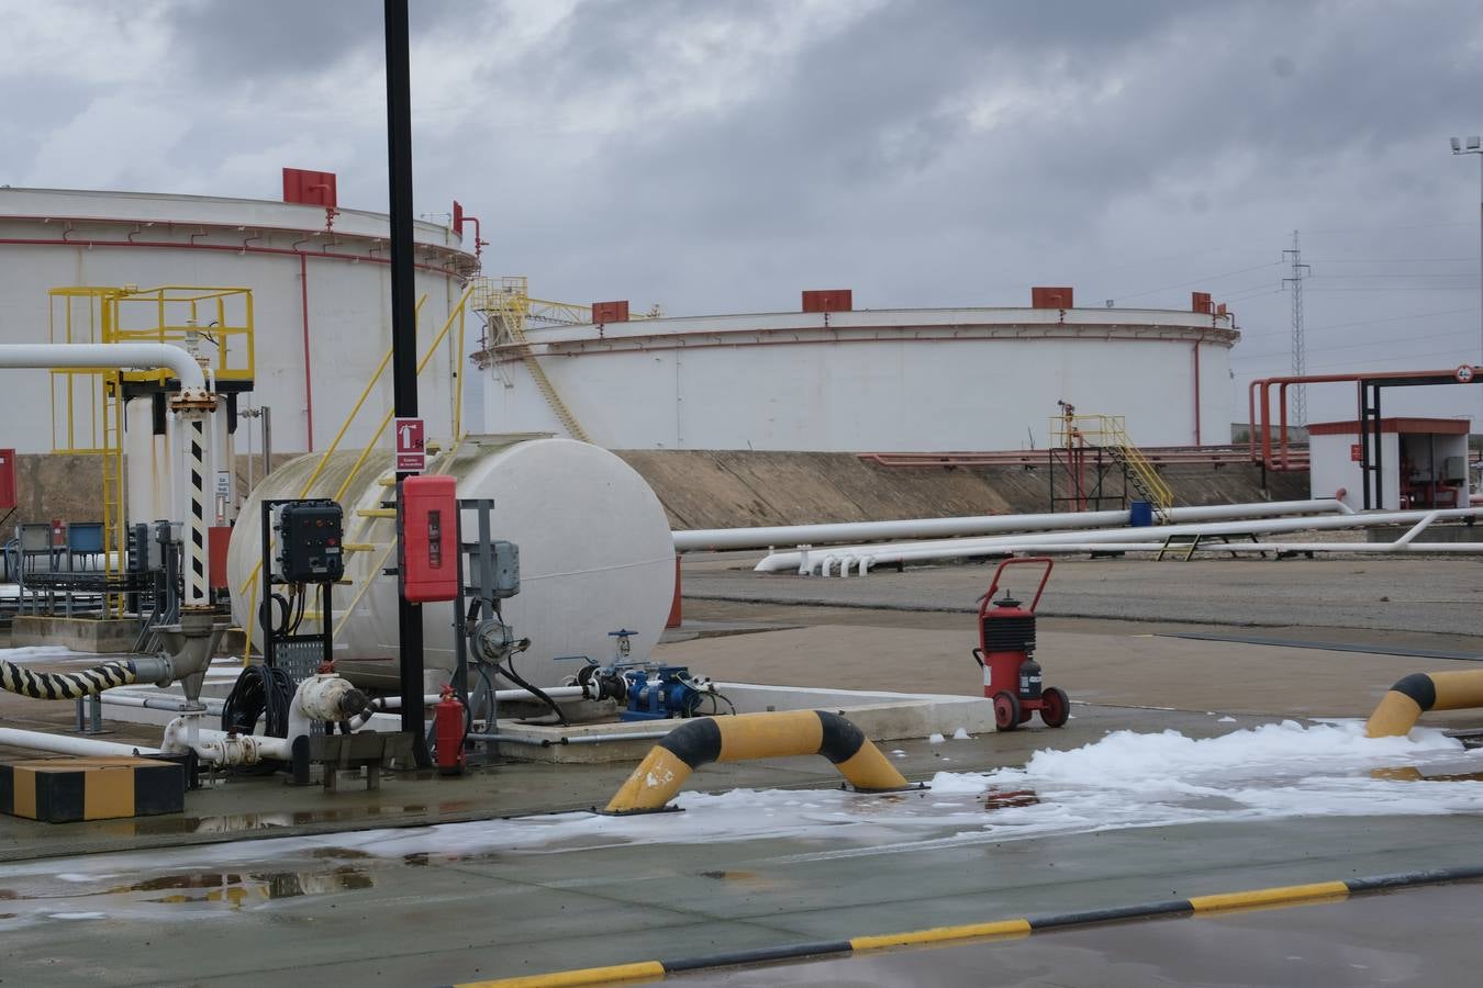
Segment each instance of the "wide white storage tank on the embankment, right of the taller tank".
[[844,310],[537,327],[476,358],[486,422],[562,430],[534,351],[608,449],[1044,449],[1057,400],[1140,446],[1200,446],[1229,441],[1238,338],[1219,310]]

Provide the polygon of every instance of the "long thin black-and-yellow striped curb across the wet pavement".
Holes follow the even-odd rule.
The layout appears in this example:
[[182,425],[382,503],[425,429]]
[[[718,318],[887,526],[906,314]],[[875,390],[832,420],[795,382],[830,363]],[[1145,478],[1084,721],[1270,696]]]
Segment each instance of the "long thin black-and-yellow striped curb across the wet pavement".
[[1218,915],[1222,912],[1237,912],[1243,909],[1277,909],[1296,905],[1321,905],[1345,899],[1351,895],[1363,895],[1366,892],[1387,892],[1391,889],[1407,889],[1450,881],[1474,881],[1479,878],[1483,878],[1483,865],[1436,868],[1430,871],[1406,871],[1390,875],[1370,875],[1367,878],[1350,878],[1347,881],[1317,881],[1311,884],[1280,886],[1275,889],[1250,889],[1247,892],[1201,895],[1189,899],[1163,899],[1158,902],[1140,902],[1105,909],[1084,909],[1081,912],[1032,915],[1019,920],[998,920],[994,923],[937,926],[927,930],[909,930],[905,933],[856,936],[847,941],[789,944],[783,947],[764,947],[758,949],[710,954],[706,957],[687,957],[681,960],[648,960],[632,964],[614,964],[610,967],[559,970],[549,975],[525,975],[521,978],[500,978],[495,981],[469,981],[445,988],[580,988],[581,985],[617,985],[636,981],[661,981],[666,975],[706,970],[712,967],[764,964],[770,961],[802,960],[805,957],[826,957],[830,954],[863,954],[868,951],[891,949],[897,947],[931,947],[962,941],[1016,939],[1041,930],[1063,930],[1077,926],[1094,926],[1099,923],[1118,923],[1124,920],[1145,920],[1169,915]]

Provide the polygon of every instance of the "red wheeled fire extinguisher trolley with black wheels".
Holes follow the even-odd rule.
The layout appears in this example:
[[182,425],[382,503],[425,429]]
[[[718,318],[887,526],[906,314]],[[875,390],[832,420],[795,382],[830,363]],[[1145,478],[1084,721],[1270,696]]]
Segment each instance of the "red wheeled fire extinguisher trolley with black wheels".
[[[1022,607],[1008,590],[994,600],[1004,567],[1020,563],[1046,564],[1029,607]],[[1007,558],[994,570],[988,593],[979,598],[979,647],[973,650],[973,658],[983,668],[983,696],[994,701],[994,723],[1000,730],[1014,730],[1035,711],[1047,727],[1062,727],[1071,717],[1066,690],[1044,686],[1040,662],[1035,661],[1035,607],[1053,567],[1054,563],[1044,555]]]

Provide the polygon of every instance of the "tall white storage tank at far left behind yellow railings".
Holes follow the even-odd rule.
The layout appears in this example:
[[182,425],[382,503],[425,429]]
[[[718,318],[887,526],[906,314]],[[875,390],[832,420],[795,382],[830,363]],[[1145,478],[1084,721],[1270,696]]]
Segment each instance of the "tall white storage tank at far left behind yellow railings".
[[[420,221],[412,238],[415,293],[426,296],[418,311],[423,356],[457,311],[478,259],[446,225]],[[0,188],[0,342],[46,342],[61,332],[62,307],[47,296],[53,287],[251,289],[255,378],[240,410],[270,409],[279,455],[325,449],[392,345],[389,241],[384,213],[347,207],[326,213],[289,201]],[[86,308],[77,313],[74,330],[90,330]],[[454,373],[478,324],[464,330],[464,348],[455,326],[421,378],[420,409],[432,434],[451,431]],[[47,375],[0,369],[0,388],[12,413],[6,443],[21,453],[50,452]],[[390,407],[392,390],[392,375],[383,373],[371,406]],[[360,416],[344,443],[369,443],[375,424]],[[240,422],[242,452],[248,433],[257,437],[261,419]]]

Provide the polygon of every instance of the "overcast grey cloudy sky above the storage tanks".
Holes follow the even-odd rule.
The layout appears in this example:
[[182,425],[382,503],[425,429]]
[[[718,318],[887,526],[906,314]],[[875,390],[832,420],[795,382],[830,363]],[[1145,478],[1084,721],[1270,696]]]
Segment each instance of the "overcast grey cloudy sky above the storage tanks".
[[[0,184],[276,198],[288,164],[386,209],[375,0],[0,16]],[[486,270],[546,298],[1210,290],[1244,418],[1290,364],[1298,230],[1311,372],[1483,358],[1483,156],[1447,148],[1483,132],[1476,0],[412,0],[412,34],[417,212],[461,200]],[[1309,403],[1352,415],[1348,388]]]

